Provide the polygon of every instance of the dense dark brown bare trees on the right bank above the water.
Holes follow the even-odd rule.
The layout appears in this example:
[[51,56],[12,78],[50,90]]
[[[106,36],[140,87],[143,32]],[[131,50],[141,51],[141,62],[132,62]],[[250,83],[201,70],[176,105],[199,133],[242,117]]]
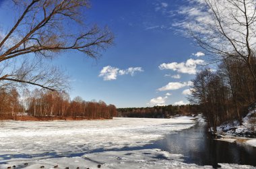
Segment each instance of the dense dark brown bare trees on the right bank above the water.
[[[256,74],[256,58],[251,60]],[[217,125],[238,120],[242,123],[248,107],[256,101],[256,82],[245,62],[227,57],[216,71],[205,68],[193,79],[191,103],[201,106],[207,123],[216,132]]]

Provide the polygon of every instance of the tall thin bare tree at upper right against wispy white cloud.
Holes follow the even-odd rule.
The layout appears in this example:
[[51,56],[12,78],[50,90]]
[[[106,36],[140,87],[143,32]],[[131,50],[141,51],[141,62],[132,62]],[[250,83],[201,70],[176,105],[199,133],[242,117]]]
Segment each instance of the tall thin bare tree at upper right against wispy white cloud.
[[197,3],[201,4],[193,11],[200,14],[194,12],[187,17],[190,19],[187,28],[197,44],[221,59],[232,57],[245,62],[256,82],[252,63],[256,47],[256,1],[204,0]]

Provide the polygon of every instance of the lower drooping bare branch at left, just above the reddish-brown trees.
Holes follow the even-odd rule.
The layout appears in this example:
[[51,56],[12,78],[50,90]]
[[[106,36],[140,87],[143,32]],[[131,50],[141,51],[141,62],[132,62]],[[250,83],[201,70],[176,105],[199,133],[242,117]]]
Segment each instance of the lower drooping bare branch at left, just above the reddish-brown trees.
[[69,78],[63,70],[47,64],[42,58],[21,57],[7,62],[1,69],[1,74],[5,74],[0,78],[1,88],[19,87],[24,83],[58,91],[68,88]]

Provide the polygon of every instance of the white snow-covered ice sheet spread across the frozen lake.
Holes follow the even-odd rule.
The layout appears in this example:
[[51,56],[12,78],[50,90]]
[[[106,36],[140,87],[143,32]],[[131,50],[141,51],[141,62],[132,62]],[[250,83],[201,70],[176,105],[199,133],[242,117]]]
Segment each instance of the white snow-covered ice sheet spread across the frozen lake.
[[[185,164],[182,154],[142,148],[166,133],[194,124],[191,117],[1,121],[0,168],[14,165],[16,168],[53,168],[56,165],[58,168],[97,168],[98,164],[101,168],[212,168]],[[253,168],[237,164],[221,166]]]

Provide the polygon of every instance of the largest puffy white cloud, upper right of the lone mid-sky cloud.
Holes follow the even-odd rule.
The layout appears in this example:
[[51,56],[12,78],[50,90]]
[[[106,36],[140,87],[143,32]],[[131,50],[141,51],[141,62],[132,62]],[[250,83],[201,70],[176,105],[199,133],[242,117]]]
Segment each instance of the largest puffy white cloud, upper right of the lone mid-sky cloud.
[[198,60],[189,59],[187,60],[187,62],[181,62],[181,63],[177,63],[177,62],[163,63],[163,64],[160,64],[160,66],[158,67],[160,68],[160,70],[170,69],[180,73],[196,74],[197,65],[203,64],[203,62],[204,62],[203,60],[199,60],[199,59]]

